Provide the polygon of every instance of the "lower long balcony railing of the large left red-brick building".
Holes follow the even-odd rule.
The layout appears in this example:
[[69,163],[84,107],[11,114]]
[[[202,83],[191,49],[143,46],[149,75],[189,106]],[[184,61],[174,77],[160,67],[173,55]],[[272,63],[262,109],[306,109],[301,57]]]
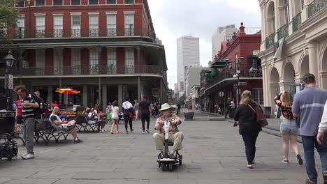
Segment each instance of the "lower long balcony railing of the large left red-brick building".
[[[3,76],[5,68],[0,68],[0,76]],[[44,76],[44,75],[134,75],[134,74],[159,74],[166,72],[161,66],[152,65],[111,65],[111,66],[65,66],[45,68],[17,68],[12,70],[15,76]],[[166,76],[163,76],[166,77]]]

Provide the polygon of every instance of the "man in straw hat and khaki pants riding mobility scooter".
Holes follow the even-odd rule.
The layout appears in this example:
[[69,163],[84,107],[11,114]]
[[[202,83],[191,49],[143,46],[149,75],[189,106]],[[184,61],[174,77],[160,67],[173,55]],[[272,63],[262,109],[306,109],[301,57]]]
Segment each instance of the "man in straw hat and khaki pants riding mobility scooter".
[[179,151],[182,148],[182,141],[184,139],[183,132],[180,132],[177,128],[177,125],[180,125],[182,122],[177,115],[170,114],[170,106],[168,103],[161,105],[160,117],[157,119],[155,129],[159,130],[159,133],[154,133],[153,139],[157,146],[157,150],[164,152],[165,146],[163,142],[165,141],[164,134],[164,123],[165,121],[170,121],[169,133],[168,133],[168,141],[173,142],[173,152],[170,154],[170,158],[176,158],[175,152]]

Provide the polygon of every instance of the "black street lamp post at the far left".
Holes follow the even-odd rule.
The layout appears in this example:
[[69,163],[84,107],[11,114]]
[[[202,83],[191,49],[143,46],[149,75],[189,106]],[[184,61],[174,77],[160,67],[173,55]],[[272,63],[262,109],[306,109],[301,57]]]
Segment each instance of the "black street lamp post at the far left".
[[11,55],[11,50],[9,50],[8,55],[4,58],[6,61],[6,74],[5,74],[5,86],[4,89],[6,89],[6,98],[7,98],[7,111],[13,110],[13,105],[11,102],[11,90],[13,90],[13,75],[10,75],[10,69],[13,67],[13,64],[15,63],[15,58],[13,55]]

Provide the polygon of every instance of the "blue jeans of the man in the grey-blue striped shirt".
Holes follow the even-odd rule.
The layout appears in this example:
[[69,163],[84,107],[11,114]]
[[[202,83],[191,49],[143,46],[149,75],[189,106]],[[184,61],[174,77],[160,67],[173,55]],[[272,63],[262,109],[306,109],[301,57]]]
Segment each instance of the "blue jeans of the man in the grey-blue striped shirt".
[[320,145],[316,136],[302,136],[303,150],[305,153],[305,169],[312,183],[317,183],[318,174],[316,162],[314,162],[314,147],[316,147],[321,161],[322,173],[327,173],[327,133],[324,133],[324,141]]

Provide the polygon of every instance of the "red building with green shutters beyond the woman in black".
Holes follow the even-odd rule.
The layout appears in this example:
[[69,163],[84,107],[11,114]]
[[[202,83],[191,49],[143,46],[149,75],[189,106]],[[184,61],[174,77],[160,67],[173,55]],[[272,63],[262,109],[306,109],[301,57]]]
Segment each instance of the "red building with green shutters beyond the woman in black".
[[[201,75],[201,94],[206,111],[213,112],[216,104],[224,107],[228,97],[234,98],[236,103],[245,90],[252,91],[254,100],[263,105],[261,60],[256,56],[260,44],[261,34],[247,35],[243,23],[232,40],[221,43],[220,52],[212,61],[212,69]],[[219,92],[223,92],[221,96]]]

